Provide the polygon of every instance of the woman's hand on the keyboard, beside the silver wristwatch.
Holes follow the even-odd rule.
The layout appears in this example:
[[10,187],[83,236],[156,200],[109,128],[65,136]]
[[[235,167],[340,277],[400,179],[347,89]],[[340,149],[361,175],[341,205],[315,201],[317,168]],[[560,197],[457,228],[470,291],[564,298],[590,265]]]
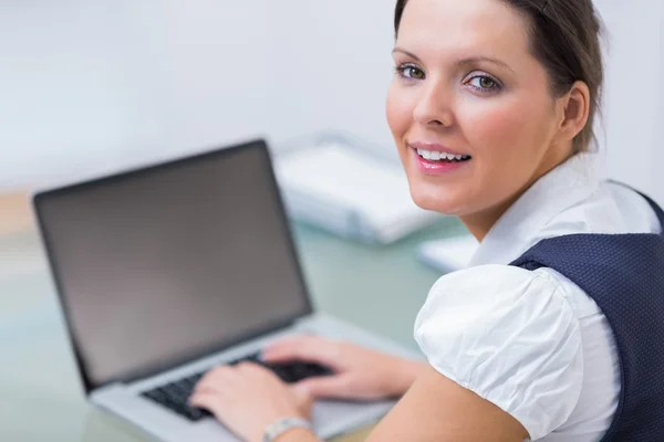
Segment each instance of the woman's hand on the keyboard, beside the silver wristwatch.
[[281,418],[309,419],[313,400],[256,365],[222,366],[208,371],[189,399],[248,442],[262,441],[266,428]]

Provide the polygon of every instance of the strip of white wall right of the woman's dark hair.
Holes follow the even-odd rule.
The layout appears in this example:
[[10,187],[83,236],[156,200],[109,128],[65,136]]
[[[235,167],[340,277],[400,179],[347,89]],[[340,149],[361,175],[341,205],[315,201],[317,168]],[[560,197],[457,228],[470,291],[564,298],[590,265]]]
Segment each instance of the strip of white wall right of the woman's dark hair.
[[606,27],[606,175],[664,203],[664,1],[595,0]]

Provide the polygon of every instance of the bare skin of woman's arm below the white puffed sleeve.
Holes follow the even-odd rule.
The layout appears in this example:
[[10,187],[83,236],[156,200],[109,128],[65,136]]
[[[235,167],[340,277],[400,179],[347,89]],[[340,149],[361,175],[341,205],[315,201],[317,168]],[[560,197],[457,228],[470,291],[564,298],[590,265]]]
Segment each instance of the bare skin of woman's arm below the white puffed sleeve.
[[526,429],[507,412],[429,367],[369,442],[521,442],[527,438]]

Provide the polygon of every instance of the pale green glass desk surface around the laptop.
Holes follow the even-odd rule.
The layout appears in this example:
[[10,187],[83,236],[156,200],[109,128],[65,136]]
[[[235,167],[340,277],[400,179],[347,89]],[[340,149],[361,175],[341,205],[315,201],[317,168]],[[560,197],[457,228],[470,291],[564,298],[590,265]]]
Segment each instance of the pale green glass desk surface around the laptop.
[[[294,228],[317,308],[411,348],[415,315],[438,276],[415,260],[415,246],[461,231],[445,220],[395,244],[371,246]],[[145,441],[85,402],[33,228],[0,233],[0,440]]]

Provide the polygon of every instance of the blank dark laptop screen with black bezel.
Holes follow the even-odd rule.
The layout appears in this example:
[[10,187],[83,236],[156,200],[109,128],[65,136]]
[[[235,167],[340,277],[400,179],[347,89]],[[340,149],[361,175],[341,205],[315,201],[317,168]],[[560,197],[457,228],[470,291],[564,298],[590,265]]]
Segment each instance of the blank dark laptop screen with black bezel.
[[310,313],[262,141],[34,198],[86,389]]

